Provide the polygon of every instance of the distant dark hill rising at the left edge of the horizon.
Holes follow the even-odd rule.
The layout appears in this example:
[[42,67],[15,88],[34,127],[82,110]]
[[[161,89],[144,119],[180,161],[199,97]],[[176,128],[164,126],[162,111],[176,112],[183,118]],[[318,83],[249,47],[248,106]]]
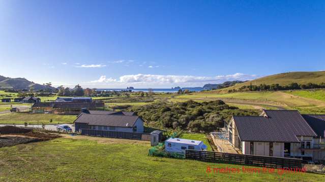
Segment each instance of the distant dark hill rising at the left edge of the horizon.
[[34,88],[34,90],[41,90],[49,88],[55,90],[54,87],[36,84],[34,82],[28,81],[25,78],[6,78],[0,76],[0,89],[29,89]]

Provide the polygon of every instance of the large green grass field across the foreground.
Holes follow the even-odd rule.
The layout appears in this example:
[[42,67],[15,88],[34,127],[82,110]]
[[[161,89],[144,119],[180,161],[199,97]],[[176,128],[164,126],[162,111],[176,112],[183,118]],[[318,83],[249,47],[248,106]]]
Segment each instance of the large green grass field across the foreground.
[[324,178],[313,173],[207,173],[207,166],[239,169],[243,166],[151,157],[147,155],[149,142],[98,139],[97,142],[57,138],[0,148],[0,181],[322,181]]

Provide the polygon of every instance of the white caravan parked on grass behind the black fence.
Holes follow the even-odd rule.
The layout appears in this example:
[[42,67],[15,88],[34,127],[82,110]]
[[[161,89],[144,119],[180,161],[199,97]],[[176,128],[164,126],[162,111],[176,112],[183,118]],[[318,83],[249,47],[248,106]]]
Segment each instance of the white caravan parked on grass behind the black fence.
[[186,149],[203,151],[206,150],[206,145],[203,141],[184,138],[168,138],[165,140],[165,150],[167,152],[184,154]]

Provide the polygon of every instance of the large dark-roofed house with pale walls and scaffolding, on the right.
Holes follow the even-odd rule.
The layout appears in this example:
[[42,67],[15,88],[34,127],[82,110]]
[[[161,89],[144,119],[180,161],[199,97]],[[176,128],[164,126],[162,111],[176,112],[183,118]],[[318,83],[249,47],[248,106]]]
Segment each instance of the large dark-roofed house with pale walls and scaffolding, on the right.
[[315,131],[298,111],[264,110],[260,116],[233,116],[227,138],[243,154],[311,160]]

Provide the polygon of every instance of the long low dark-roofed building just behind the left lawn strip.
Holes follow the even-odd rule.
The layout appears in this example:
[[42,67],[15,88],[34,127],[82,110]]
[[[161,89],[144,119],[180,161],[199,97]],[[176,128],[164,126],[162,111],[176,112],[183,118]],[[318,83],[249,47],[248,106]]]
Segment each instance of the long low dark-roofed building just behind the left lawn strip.
[[78,115],[81,113],[82,108],[88,108],[92,110],[103,110],[103,102],[92,103],[77,103],[77,102],[38,102],[32,106],[33,113],[45,113],[52,114],[72,114]]

